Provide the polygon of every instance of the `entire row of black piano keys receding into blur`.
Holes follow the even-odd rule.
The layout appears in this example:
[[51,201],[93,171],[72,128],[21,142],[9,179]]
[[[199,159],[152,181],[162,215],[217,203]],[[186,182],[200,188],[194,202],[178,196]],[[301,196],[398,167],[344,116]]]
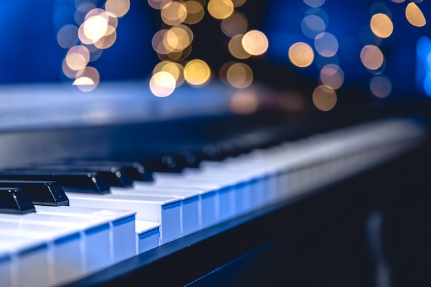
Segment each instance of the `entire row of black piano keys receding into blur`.
[[134,181],[152,181],[154,172],[179,173],[188,167],[198,168],[203,160],[223,160],[283,140],[286,139],[280,131],[266,129],[217,144],[195,145],[188,151],[153,151],[151,160],[61,160],[4,169],[0,171],[0,213],[34,212],[34,204],[69,205],[66,192],[109,193],[110,187],[132,187]]

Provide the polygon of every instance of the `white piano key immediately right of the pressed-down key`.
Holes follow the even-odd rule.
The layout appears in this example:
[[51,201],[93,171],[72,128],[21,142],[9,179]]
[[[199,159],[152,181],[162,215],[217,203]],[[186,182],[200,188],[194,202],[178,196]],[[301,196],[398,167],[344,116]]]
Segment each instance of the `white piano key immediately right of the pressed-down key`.
[[161,244],[181,237],[180,198],[72,192],[66,195],[70,206],[129,209],[136,211],[136,220],[160,223]]

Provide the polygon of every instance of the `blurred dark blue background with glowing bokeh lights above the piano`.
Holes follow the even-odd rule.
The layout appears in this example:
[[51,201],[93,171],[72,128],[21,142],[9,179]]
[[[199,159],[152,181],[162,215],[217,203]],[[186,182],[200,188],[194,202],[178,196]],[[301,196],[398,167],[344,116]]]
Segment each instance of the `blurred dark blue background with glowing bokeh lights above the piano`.
[[[265,85],[322,111],[431,95],[427,1],[0,3],[0,83]],[[301,96],[298,96],[298,95]],[[289,99],[291,99],[289,101]],[[296,104],[295,104],[296,103]]]

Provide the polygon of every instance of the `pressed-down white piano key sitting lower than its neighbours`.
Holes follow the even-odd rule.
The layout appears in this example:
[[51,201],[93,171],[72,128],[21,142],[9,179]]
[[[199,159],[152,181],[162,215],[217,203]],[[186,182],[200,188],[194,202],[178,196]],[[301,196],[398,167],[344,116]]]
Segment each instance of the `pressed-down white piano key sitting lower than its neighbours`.
[[160,223],[136,220],[136,253],[144,253],[160,245]]

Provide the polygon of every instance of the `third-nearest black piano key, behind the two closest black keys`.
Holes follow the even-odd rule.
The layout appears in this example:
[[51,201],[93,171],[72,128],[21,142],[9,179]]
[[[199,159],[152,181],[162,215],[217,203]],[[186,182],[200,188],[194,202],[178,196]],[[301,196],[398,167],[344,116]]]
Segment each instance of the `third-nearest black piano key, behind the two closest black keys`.
[[85,171],[8,170],[0,172],[0,180],[54,181],[65,192],[109,193],[109,184],[100,173]]

